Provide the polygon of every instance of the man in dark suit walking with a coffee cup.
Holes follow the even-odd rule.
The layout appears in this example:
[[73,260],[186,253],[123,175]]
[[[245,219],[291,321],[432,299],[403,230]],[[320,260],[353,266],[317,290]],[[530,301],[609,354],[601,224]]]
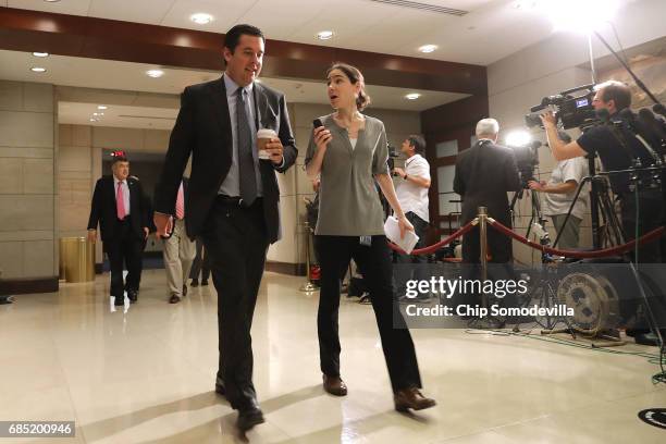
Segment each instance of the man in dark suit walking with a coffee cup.
[[[222,78],[185,88],[156,193],[158,233],[192,153],[185,219],[187,235],[201,236],[218,292],[220,363],[215,391],[238,410],[238,428],[263,422],[252,384],[250,326],[269,244],[280,238],[275,171],[296,160],[284,95],[256,83],[264,38],[249,25],[225,36]],[[256,134],[274,130],[270,160],[259,160]]]

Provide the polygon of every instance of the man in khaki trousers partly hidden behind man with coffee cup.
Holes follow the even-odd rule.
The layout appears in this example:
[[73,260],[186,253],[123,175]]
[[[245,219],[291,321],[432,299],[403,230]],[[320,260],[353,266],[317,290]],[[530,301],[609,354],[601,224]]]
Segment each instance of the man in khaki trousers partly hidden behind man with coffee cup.
[[196,254],[196,244],[187,237],[185,232],[185,218],[189,181],[183,177],[175,206],[171,212],[171,232],[162,236],[164,243],[164,269],[166,270],[166,283],[169,285],[169,304],[177,304],[187,296],[187,276]]

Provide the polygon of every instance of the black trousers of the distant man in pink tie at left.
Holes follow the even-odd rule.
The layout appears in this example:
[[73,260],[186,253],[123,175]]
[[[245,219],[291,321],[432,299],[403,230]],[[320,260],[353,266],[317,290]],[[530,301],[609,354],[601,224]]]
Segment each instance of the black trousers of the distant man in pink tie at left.
[[[103,243],[103,249],[109,256],[111,266],[110,295],[124,297],[123,292],[139,289],[141,282],[141,255],[144,239],[132,232],[131,217],[125,218],[119,225],[119,233],[113,240]],[[123,283],[123,269],[127,268],[127,279]]]

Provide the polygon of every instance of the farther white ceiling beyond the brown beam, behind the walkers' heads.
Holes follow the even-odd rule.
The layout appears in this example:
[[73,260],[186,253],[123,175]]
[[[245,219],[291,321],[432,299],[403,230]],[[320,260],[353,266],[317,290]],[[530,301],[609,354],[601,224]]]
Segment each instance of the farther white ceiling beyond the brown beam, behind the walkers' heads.
[[[64,0],[63,0],[64,1]],[[163,67],[164,75],[151,78],[146,71],[155,67],[145,63],[118,62],[111,60],[84,59],[64,55],[36,58],[28,52],[0,50],[0,78],[16,82],[49,83],[61,86],[76,86],[109,90],[132,90],[158,94],[178,95],[187,85],[211,81],[220,77],[219,72],[202,70],[184,70]],[[30,72],[32,66],[46,67],[45,73]],[[306,82],[284,78],[262,77],[261,82],[283,91],[289,102],[329,103],[324,82]],[[465,94],[430,91],[386,86],[367,86],[374,108],[406,111],[422,111],[440,104],[469,97]],[[407,100],[408,92],[420,92],[418,100]],[[177,101],[175,102],[177,103]],[[174,108],[164,111],[160,108],[141,108],[126,104],[122,110],[106,112],[100,122],[89,122],[97,104],[104,103],[67,103],[60,108],[60,122],[71,124],[92,124],[124,127],[153,127],[171,130],[173,121],[163,119],[128,119],[122,115],[155,115],[159,118],[175,116]],[[171,103],[169,103],[171,104]],[[135,108],[132,110],[132,108]],[[157,110],[157,111],[151,111]],[[166,112],[166,114],[161,114]]]

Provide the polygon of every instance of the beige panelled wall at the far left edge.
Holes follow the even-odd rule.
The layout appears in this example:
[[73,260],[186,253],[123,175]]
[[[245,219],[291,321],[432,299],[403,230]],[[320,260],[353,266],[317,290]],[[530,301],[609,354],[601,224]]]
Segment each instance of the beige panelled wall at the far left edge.
[[58,274],[53,86],[0,81],[2,279]]

